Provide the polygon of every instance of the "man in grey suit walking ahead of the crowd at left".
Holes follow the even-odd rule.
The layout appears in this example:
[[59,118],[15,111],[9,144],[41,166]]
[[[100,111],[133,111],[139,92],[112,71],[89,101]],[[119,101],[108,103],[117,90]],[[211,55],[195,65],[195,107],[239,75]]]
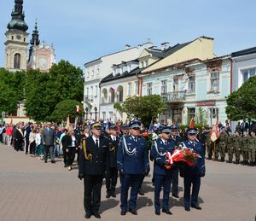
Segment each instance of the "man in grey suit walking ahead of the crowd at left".
[[50,156],[51,163],[55,163],[55,131],[51,128],[51,123],[47,122],[43,133],[44,144],[44,163],[47,163],[48,154]]

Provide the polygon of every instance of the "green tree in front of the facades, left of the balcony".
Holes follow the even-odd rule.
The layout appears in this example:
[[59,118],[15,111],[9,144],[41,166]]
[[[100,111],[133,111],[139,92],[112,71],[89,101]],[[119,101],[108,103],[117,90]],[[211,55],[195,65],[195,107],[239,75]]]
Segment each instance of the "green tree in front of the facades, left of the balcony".
[[121,112],[125,112],[128,118],[142,119],[143,125],[149,126],[152,119],[156,119],[166,109],[166,104],[159,95],[131,96],[123,105],[115,105]]

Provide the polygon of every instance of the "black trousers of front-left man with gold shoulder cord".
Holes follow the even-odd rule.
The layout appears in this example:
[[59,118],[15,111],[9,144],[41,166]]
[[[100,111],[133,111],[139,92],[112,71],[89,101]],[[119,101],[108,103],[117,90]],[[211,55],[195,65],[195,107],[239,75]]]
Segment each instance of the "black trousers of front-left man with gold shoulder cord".
[[98,212],[101,205],[102,175],[84,175],[84,211]]

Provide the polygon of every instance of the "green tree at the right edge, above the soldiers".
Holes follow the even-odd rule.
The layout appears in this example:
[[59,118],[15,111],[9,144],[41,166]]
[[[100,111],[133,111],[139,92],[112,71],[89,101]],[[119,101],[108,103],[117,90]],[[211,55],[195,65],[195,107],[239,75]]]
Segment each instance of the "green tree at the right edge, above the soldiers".
[[226,113],[231,120],[256,119],[256,76],[227,97]]

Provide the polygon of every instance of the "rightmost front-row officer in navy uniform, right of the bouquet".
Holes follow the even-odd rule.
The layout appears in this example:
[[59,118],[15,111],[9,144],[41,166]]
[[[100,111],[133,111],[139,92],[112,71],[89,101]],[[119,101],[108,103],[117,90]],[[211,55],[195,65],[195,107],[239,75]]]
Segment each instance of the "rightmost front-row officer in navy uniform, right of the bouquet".
[[[200,154],[201,158],[196,161],[195,166],[184,166],[184,208],[186,211],[190,211],[191,207],[201,210],[198,202],[198,194],[201,185],[201,177],[205,176],[206,166],[204,158],[204,150],[202,148],[201,142],[196,139],[196,129],[188,129],[188,140],[183,142],[183,147],[187,147],[189,150],[193,149],[196,154]],[[191,202],[190,202],[190,192],[191,184],[193,184]]]

